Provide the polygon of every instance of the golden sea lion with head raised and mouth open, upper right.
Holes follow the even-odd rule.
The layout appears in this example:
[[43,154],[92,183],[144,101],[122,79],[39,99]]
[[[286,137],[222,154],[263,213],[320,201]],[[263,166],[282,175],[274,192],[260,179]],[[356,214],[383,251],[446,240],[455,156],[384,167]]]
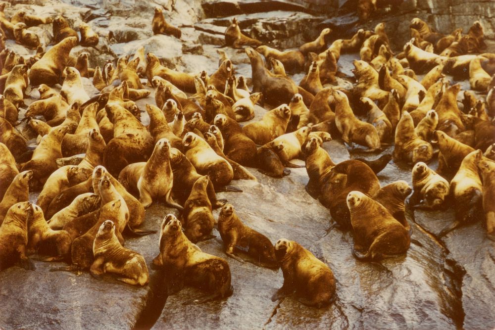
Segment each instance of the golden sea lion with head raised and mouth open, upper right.
[[373,101],[378,101],[378,106],[383,107],[389,100],[389,92],[380,89],[378,72],[362,60],[353,60],[352,64],[355,68],[352,72],[357,80],[354,93],[360,97],[369,97]]

